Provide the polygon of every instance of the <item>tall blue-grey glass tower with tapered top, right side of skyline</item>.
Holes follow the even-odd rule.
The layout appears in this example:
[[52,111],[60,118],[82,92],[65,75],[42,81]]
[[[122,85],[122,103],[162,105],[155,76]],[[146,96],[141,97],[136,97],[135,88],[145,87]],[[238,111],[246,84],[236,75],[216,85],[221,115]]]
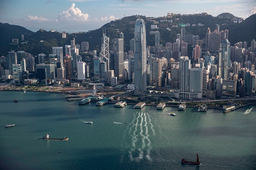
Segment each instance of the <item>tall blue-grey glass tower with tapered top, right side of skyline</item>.
[[230,66],[230,43],[228,39],[222,39],[219,47],[219,76],[228,79],[228,67]]

